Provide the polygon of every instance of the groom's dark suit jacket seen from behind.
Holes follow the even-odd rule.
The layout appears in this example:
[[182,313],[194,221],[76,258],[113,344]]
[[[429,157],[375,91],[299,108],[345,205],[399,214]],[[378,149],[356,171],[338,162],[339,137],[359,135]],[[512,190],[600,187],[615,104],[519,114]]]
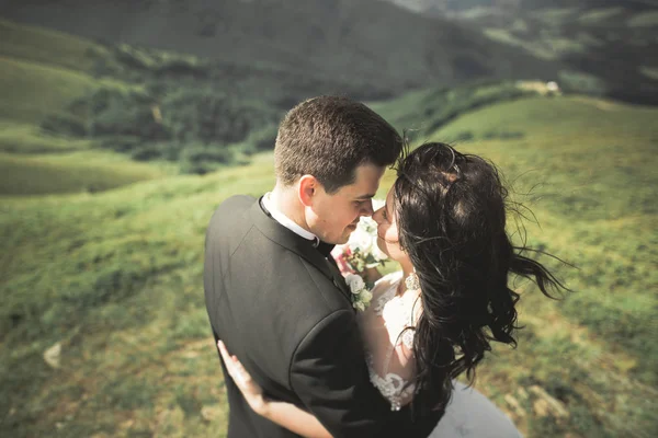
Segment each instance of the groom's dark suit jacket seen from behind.
[[[439,415],[392,412],[371,384],[355,313],[336,265],[313,243],[235,196],[206,233],[204,286],[215,341],[272,399],[310,411],[334,437],[427,437]],[[226,373],[228,437],[295,437],[253,413]]]

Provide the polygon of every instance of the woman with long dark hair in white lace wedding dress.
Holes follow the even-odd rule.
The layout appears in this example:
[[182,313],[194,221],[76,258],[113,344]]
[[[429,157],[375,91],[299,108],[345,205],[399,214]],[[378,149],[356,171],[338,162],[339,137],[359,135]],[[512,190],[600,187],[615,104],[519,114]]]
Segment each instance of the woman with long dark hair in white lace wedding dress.
[[[426,143],[397,166],[375,211],[377,245],[401,270],[379,278],[359,314],[371,382],[392,410],[445,411],[431,437],[519,437],[504,414],[454,379],[475,368],[498,341],[515,345],[519,295],[510,274],[533,279],[549,297],[561,284],[524,257],[506,233],[507,189],[496,168],[445,143]],[[313,414],[269,400],[237,357],[218,343],[227,370],[250,406],[307,437],[328,437]]]

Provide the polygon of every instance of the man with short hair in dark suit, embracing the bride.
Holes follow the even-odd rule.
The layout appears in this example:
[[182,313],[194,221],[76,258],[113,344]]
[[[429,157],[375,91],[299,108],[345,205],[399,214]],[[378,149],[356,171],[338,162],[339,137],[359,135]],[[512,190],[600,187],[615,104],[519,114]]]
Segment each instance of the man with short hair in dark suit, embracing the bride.
[[[206,233],[204,287],[215,341],[265,394],[313,413],[334,437],[427,437],[440,413],[392,412],[371,384],[350,291],[329,252],[347,242],[401,139],[361,103],[321,96],[279,128],[276,185],[234,196]],[[257,415],[224,364],[228,437],[295,437]]]

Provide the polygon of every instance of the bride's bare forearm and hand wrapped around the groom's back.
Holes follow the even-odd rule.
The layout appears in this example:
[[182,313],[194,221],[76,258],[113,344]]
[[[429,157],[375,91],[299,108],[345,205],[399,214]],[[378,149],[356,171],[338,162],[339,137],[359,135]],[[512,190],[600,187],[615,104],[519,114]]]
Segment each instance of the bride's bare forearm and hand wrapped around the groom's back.
[[219,341],[217,346],[224,358],[226,370],[242,392],[249,406],[257,414],[303,437],[331,438],[329,431],[313,414],[292,403],[277,402],[265,397],[262,388],[251,379],[238,358],[228,353],[224,343]]

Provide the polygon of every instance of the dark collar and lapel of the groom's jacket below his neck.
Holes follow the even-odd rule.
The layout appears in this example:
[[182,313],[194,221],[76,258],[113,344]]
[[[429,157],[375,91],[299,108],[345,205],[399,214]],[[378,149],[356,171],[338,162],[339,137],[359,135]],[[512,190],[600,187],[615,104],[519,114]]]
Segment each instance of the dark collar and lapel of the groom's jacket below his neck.
[[295,232],[288,230],[261,208],[260,199],[253,203],[250,209],[250,216],[253,224],[270,240],[279,243],[287,250],[299,255],[308,263],[314,265],[327,278],[333,281],[333,285],[350,299],[350,290],[345,284],[338,267],[332,264],[331,255],[325,258],[320,252],[313,246],[313,243]]

